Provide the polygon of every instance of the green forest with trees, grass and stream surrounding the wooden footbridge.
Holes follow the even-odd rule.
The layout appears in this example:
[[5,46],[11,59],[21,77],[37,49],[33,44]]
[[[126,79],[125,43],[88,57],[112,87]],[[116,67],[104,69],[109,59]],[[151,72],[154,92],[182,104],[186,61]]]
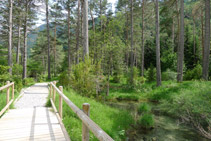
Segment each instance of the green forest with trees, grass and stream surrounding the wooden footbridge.
[[57,81],[114,140],[206,141],[210,38],[210,0],[1,0],[0,86]]

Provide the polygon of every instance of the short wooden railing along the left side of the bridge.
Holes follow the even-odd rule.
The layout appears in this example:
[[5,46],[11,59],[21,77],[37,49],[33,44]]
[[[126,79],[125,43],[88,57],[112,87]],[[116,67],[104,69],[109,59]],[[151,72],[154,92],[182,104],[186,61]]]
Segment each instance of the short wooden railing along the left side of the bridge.
[[[10,100],[10,88],[12,88],[12,99]],[[0,91],[6,89],[7,95],[6,95],[6,106],[0,111],[0,116],[6,111],[9,110],[10,105],[12,104],[14,100],[14,82],[10,83],[10,81],[7,81],[7,85],[0,87]],[[0,103],[1,104],[1,103]]]

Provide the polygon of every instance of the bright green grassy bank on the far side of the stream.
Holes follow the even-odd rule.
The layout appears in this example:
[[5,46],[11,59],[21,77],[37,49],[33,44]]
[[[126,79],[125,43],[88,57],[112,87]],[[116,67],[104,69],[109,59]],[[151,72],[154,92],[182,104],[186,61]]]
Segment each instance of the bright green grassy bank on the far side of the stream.
[[[111,83],[110,95],[108,100],[117,100],[121,97],[137,97],[139,101],[146,100],[170,100],[174,96],[179,96],[184,93],[208,93],[211,91],[211,82],[205,81],[184,81],[176,83],[174,81],[163,81],[161,87],[156,87],[156,83],[145,83],[137,91],[126,89],[121,84]],[[134,100],[128,98],[128,100]]]

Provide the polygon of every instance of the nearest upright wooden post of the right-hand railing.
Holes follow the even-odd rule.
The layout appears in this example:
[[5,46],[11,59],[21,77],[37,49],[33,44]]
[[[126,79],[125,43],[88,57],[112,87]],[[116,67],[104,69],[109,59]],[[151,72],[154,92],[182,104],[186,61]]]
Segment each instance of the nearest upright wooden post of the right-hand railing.
[[[83,112],[87,116],[89,116],[89,114],[90,114],[90,104],[89,103],[83,104]],[[89,141],[89,129],[87,128],[87,126],[84,123],[82,125],[82,141]]]

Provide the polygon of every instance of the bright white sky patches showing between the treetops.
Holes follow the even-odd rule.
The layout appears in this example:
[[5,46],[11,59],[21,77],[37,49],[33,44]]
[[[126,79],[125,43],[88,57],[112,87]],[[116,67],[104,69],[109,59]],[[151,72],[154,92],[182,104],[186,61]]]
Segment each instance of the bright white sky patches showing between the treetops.
[[[108,0],[109,3],[112,3],[112,10],[113,12],[115,11],[115,5],[116,5],[116,2],[118,0]],[[40,5],[40,8],[39,8],[39,13],[38,13],[38,21],[36,23],[36,26],[40,26],[42,24],[45,23],[45,21],[43,21],[45,19],[45,5],[42,4]]]

